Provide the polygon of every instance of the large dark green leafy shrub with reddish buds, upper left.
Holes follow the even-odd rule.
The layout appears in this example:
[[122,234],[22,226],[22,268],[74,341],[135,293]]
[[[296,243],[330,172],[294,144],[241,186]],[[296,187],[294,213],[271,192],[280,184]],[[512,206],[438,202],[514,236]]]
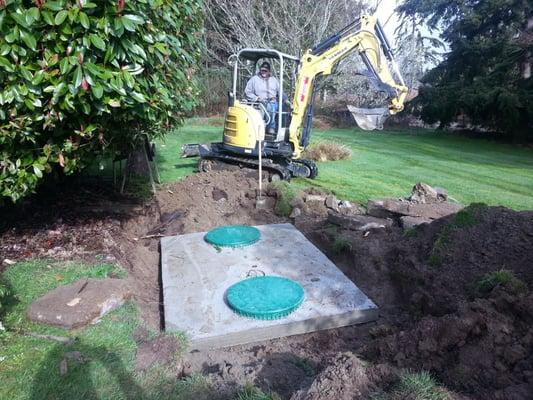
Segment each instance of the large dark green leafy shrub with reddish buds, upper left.
[[194,107],[199,0],[0,0],[0,199]]

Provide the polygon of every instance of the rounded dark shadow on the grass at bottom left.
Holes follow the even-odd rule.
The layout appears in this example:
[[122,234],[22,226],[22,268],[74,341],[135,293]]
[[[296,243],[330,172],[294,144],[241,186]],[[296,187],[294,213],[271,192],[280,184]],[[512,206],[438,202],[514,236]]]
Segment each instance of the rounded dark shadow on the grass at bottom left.
[[33,379],[31,400],[150,399],[121,356],[104,346],[55,346]]

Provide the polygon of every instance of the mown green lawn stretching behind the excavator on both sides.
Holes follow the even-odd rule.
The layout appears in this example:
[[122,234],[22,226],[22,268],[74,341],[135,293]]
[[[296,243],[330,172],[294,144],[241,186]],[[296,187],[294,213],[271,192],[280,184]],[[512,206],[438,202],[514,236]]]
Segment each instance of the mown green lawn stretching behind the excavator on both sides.
[[[180,158],[185,143],[219,141],[221,126],[190,120],[159,146],[164,182],[196,170],[197,159]],[[533,209],[533,150],[427,130],[359,129],[313,131],[313,141],[333,140],[353,151],[350,160],[319,163],[315,180],[295,179],[297,186],[317,186],[337,196],[365,203],[370,198],[407,195],[419,181],[443,187],[461,203],[484,202]]]

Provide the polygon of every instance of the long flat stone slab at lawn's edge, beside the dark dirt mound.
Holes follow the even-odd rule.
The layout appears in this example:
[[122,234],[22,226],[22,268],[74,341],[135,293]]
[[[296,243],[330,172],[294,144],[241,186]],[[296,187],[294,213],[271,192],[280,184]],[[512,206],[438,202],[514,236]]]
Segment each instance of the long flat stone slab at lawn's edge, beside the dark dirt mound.
[[455,214],[462,209],[462,205],[455,203],[419,204],[397,199],[369,200],[367,205],[368,215],[378,218],[410,216],[438,219]]

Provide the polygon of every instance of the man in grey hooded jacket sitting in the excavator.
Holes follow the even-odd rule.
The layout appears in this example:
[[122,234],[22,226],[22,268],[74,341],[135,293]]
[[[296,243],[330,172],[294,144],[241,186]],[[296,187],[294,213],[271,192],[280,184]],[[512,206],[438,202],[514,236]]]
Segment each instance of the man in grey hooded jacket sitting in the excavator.
[[259,73],[250,78],[244,89],[246,98],[250,101],[258,101],[265,105],[270,116],[270,122],[266,129],[267,133],[274,134],[277,131],[277,118],[279,96],[279,81],[270,75],[270,64],[265,61],[259,67]]

